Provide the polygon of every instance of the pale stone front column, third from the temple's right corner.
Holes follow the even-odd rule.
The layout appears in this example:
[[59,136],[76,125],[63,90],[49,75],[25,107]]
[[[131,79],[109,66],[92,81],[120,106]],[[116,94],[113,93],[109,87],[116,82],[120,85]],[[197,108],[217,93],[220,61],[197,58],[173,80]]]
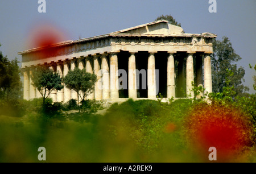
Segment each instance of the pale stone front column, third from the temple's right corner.
[[167,60],[167,98],[175,98],[174,53],[169,53]]

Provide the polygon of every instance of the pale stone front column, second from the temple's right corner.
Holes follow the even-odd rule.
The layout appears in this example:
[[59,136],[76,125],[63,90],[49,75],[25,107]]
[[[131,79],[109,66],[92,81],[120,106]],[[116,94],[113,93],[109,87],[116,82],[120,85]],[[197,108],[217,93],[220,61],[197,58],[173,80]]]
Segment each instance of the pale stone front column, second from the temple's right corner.
[[192,81],[194,81],[194,70],[193,70],[193,53],[189,53],[187,57],[186,63],[186,90],[187,97],[194,97],[194,93],[192,92]]

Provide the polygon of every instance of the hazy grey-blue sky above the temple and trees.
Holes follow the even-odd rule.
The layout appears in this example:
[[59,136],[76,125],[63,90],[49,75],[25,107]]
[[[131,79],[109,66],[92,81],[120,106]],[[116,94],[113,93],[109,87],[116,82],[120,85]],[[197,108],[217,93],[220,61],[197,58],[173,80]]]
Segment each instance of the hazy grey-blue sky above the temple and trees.
[[0,0],[0,51],[9,59],[27,49],[30,30],[48,21],[67,33],[67,40],[108,34],[154,21],[170,14],[187,33],[212,32],[228,36],[242,57],[245,85],[253,90],[256,64],[256,1],[217,0],[217,13],[209,13],[209,0],[46,0],[46,13],[38,12],[38,0]]

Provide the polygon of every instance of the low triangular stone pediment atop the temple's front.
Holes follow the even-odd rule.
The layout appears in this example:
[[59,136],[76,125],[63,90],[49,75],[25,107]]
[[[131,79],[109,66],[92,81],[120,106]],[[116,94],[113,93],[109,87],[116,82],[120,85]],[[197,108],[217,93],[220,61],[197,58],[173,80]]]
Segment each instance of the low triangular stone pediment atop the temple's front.
[[151,23],[142,24],[140,26],[127,28],[112,32],[112,34],[162,34],[162,35],[180,35],[184,34],[183,28],[169,24],[167,20],[158,20]]

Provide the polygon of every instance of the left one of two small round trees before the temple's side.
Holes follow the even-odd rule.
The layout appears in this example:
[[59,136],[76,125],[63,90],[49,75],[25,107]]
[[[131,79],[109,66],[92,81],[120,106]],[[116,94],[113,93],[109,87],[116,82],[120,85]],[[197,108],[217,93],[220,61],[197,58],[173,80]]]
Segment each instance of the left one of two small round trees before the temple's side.
[[59,73],[53,72],[48,67],[36,67],[32,73],[31,80],[32,85],[38,89],[43,97],[43,107],[46,98],[53,90],[61,90],[64,87],[61,85],[62,78],[60,77]]

